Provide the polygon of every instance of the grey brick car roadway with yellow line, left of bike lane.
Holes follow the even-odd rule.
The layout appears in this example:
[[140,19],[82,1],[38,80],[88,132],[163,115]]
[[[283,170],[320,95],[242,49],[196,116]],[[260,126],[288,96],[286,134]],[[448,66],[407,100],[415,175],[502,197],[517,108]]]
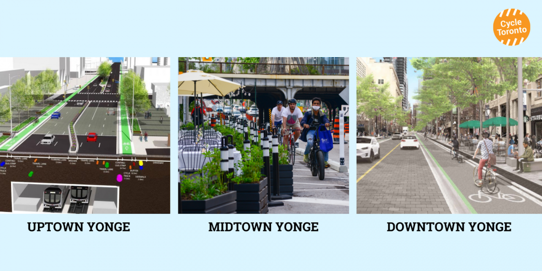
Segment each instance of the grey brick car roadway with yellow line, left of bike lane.
[[382,140],[372,163],[357,158],[357,213],[450,214],[422,150],[401,150],[400,143]]

